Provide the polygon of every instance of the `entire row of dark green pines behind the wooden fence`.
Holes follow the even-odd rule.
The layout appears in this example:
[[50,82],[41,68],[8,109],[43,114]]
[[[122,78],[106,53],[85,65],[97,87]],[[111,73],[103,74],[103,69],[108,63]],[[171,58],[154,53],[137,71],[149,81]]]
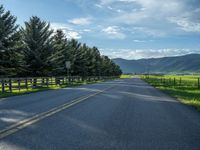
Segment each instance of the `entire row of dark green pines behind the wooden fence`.
[[63,76],[70,61],[73,76],[119,76],[122,71],[97,47],[67,39],[62,30],[33,16],[24,27],[0,6],[0,77]]

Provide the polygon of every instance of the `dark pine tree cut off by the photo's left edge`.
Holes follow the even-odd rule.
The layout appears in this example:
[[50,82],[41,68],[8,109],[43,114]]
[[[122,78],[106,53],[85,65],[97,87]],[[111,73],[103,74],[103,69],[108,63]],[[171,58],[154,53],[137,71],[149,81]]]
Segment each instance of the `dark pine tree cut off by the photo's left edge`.
[[20,62],[18,49],[19,34],[16,17],[0,6],[0,76],[17,74]]

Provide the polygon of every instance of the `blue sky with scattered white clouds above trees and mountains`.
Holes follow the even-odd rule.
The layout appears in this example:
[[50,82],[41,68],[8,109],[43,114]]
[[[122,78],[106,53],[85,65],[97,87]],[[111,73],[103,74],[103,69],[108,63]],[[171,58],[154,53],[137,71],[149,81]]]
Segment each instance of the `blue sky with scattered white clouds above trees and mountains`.
[[31,16],[111,58],[200,53],[200,0],[0,0],[21,26]]

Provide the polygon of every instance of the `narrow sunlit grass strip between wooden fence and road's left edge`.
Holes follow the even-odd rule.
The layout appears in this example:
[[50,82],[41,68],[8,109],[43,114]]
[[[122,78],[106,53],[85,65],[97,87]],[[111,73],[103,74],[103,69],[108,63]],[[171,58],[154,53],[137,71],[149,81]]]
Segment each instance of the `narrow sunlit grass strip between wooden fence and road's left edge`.
[[50,85],[49,87],[42,87],[38,86],[35,88],[22,88],[22,89],[14,89],[12,92],[9,92],[8,89],[6,89],[6,92],[0,93],[0,100],[1,98],[6,98],[6,97],[11,97],[11,96],[18,96],[18,95],[24,95],[24,94],[30,94],[30,93],[35,93],[35,92],[42,92],[42,91],[47,91],[47,90],[57,90],[61,88],[66,88],[66,87],[75,87],[75,86],[80,86],[80,85],[86,85],[86,84],[93,84],[93,83],[100,83],[104,82],[106,80],[97,80],[97,81],[75,81],[71,82],[70,84],[64,84],[64,85]]

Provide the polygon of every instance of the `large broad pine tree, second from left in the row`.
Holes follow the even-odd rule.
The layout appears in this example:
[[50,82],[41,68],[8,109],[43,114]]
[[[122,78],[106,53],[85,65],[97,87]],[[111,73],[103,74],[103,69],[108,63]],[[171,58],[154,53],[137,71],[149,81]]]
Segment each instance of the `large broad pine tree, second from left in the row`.
[[24,69],[28,76],[52,75],[53,30],[50,24],[33,16],[21,28],[24,43]]

